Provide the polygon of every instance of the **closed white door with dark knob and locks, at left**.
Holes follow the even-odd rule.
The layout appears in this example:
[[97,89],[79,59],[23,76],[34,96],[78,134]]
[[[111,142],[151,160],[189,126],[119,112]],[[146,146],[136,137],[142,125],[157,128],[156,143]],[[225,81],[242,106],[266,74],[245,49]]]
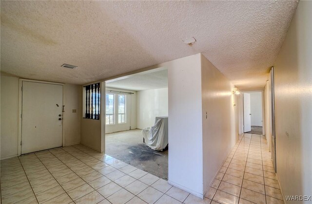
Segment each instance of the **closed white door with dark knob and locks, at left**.
[[62,101],[62,85],[22,82],[22,154],[62,146]]

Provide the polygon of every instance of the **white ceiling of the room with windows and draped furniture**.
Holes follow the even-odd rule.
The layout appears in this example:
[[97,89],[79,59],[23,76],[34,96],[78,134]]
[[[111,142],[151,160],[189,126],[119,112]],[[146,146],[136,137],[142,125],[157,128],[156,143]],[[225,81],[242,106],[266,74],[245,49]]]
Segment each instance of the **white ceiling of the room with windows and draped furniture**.
[[108,82],[106,87],[133,91],[167,88],[168,70],[134,74],[130,77]]

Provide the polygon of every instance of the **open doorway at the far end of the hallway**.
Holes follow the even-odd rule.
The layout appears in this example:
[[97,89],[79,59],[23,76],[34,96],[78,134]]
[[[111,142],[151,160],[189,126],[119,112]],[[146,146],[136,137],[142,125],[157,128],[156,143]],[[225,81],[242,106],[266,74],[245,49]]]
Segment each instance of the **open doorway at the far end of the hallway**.
[[244,133],[263,134],[263,92],[243,93]]

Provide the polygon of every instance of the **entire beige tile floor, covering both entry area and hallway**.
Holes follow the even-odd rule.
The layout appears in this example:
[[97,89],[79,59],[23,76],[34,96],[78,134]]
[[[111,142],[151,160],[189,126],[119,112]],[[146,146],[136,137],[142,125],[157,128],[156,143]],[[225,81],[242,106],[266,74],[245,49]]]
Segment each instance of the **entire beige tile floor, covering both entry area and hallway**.
[[83,145],[40,151],[1,161],[1,203],[283,203],[266,147],[240,137],[204,200]]

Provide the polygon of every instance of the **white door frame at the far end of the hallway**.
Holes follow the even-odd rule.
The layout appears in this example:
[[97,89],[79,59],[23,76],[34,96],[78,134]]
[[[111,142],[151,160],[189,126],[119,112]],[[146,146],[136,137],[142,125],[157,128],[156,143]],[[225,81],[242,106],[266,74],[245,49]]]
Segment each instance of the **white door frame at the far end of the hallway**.
[[242,91],[240,94],[240,106],[238,107],[238,117],[239,121],[239,134],[244,133],[244,100],[243,100],[243,95],[244,93],[252,93],[252,92],[261,92],[261,98],[262,98],[262,135],[265,135],[265,112],[264,112],[264,90],[253,90],[253,91]]

